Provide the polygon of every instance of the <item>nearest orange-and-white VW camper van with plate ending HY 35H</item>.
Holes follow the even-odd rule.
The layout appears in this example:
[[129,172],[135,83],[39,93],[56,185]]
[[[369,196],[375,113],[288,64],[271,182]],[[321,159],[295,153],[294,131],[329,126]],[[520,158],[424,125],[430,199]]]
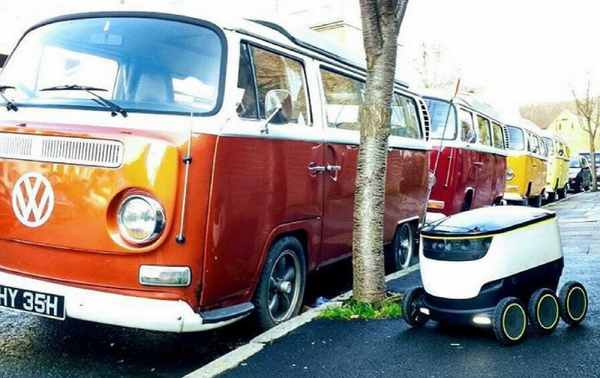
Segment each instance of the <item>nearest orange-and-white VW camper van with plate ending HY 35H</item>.
[[[170,332],[298,314],[307,272],[351,253],[362,62],[189,13],[33,27],[0,74],[0,306]],[[403,268],[430,147],[400,82],[392,110],[384,234]]]

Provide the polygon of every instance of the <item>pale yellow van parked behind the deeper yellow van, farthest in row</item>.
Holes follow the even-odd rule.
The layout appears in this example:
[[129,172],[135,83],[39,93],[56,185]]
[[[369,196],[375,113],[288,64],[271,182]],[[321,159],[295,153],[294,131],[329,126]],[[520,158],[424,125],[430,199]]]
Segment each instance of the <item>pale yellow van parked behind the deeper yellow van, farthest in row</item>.
[[548,202],[567,196],[569,181],[569,147],[567,141],[555,132],[542,131],[542,139],[548,150],[548,172],[546,173],[546,193]]

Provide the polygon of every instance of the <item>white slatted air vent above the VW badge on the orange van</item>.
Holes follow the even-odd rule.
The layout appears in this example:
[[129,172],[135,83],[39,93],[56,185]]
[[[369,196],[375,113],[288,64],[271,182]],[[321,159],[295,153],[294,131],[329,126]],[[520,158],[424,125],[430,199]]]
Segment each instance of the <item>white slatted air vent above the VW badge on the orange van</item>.
[[123,143],[113,140],[0,134],[0,158],[117,168]]

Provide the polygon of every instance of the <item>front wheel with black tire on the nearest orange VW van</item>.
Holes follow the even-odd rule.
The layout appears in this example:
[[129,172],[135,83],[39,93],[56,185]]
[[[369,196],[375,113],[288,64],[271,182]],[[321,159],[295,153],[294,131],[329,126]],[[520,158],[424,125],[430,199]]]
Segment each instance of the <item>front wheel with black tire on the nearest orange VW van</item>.
[[298,239],[285,236],[269,248],[254,292],[254,318],[260,329],[273,328],[298,315],[305,286],[306,263],[302,245]]

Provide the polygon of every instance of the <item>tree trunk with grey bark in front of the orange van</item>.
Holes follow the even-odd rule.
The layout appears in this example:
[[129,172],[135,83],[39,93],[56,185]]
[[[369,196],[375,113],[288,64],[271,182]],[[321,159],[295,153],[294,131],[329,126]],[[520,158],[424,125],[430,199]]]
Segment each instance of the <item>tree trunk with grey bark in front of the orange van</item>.
[[354,299],[385,298],[383,212],[391,103],[400,25],[408,0],[360,0],[367,83],[359,110],[352,265]]

